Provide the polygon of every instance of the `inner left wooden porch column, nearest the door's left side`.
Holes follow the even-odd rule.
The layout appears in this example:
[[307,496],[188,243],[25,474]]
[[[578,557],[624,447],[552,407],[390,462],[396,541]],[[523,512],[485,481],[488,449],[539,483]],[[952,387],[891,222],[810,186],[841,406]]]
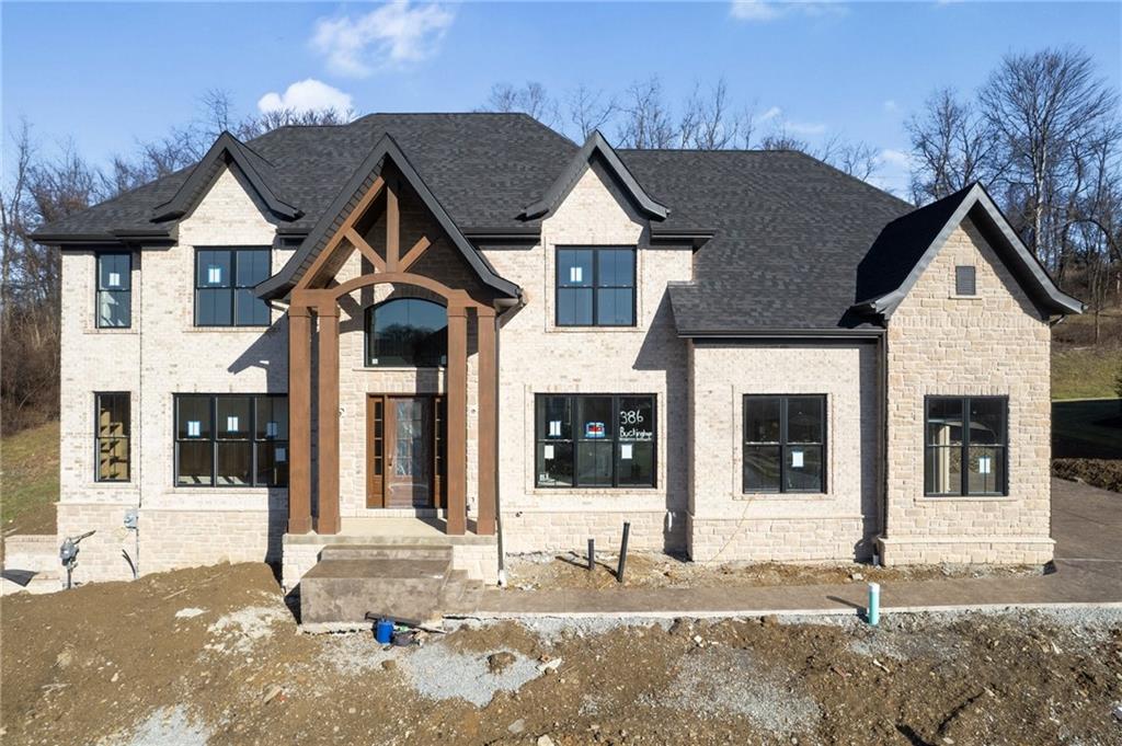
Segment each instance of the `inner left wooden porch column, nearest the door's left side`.
[[320,509],[315,533],[339,533],[339,304],[316,305],[320,317],[319,475]]

